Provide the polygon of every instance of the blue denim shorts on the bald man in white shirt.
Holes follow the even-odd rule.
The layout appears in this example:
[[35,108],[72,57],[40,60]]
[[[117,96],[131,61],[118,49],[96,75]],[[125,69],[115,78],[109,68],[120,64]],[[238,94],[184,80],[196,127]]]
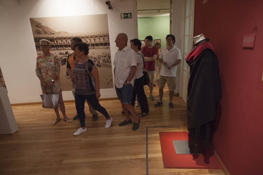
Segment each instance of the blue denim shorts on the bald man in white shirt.
[[122,101],[123,104],[131,104],[132,90],[131,84],[123,84],[122,88],[116,88],[118,100]]

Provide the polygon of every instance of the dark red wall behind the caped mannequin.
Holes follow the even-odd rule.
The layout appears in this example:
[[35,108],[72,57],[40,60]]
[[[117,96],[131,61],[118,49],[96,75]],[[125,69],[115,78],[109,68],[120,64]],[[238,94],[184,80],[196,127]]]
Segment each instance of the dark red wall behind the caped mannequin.
[[[263,174],[262,31],[262,0],[195,0],[194,36],[210,39],[222,83],[213,147],[231,175]],[[243,35],[252,33],[254,48],[243,49]]]

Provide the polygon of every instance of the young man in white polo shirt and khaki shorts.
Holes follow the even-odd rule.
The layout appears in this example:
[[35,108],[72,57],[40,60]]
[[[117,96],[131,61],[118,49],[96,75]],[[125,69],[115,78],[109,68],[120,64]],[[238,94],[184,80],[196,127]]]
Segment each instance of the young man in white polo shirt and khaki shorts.
[[159,79],[159,101],[154,104],[154,107],[162,105],[163,88],[165,83],[168,84],[169,89],[169,108],[174,108],[172,99],[174,96],[174,90],[176,88],[176,70],[177,65],[181,63],[181,52],[179,48],[174,46],[175,37],[172,34],[166,36],[167,46],[161,50],[160,62],[162,63],[162,69]]

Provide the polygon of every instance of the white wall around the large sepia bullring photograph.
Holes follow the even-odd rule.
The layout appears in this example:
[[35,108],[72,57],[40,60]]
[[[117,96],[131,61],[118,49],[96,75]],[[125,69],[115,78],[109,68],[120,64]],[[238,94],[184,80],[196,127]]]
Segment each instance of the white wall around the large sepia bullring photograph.
[[[13,6],[0,4],[0,66],[11,103],[41,101],[40,82],[35,73],[37,52],[29,18],[108,14],[112,63],[117,51],[114,42],[117,34],[123,32],[128,35],[128,41],[134,39],[134,19],[120,18],[120,13],[134,14],[132,0],[111,1],[113,11],[108,10],[104,0],[23,0],[18,2],[19,5]],[[62,93],[63,100],[74,99],[71,91]],[[114,88],[101,89],[101,98],[116,96]]]

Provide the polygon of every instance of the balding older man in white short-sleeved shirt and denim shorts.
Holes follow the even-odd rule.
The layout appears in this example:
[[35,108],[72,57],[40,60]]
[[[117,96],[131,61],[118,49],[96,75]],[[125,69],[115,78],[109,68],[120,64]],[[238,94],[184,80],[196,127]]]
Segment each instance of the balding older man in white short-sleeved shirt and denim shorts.
[[134,107],[131,105],[132,90],[134,85],[134,74],[136,72],[137,57],[134,50],[128,47],[128,37],[125,33],[119,33],[115,39],[116,46],[119,48],[115,54],[113,65],[115,76],[115,89],[122,104],[126,119],[119,123],[119,126],[132,123],[129,112],[134,117],[132,130],[139,128],[140,119]]

